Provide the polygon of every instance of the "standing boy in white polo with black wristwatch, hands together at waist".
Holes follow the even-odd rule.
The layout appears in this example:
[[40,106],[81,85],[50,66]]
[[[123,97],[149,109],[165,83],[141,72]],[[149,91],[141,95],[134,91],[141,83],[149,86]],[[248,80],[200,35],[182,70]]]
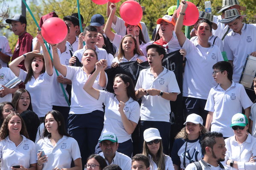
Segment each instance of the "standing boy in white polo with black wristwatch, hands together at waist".
[[[163,152],[169,155],[170,140],[170,101],[176,101],[180,93],[174,72],[162,66],[165,49],[151,44],[147,46],[149,69],[143,69],[135,86],[137,98],[141,102],[141,143],[144,130],[154,127],[162,136]],[[142,148],[142,147],[141,147]]]

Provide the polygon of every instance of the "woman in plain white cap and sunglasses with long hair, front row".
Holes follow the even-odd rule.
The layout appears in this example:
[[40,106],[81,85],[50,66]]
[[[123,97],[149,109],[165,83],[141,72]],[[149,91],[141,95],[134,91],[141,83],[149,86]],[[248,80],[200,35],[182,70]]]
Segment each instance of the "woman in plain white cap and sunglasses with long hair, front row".
[[162,138],[159,130],[148,128],[143,133],[144,143],[142,154],[150,160],[150,170],[174,170],[170,156],[163,153]]

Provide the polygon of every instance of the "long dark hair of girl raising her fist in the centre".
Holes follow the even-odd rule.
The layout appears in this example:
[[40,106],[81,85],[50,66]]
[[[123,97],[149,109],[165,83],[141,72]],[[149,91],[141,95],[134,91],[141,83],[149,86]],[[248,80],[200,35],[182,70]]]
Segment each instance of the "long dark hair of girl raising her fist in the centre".
[[[115,75],[115,78],[117,77],[120,77],[124,81],[124,84],[129,83],[129,85],[126,88],[127,95],[128,97],[131,97],[133,100],[137,101],[137,98],[135,96],[135,87],[134,87],[132,78],[130,78],[128,75],[125,75],[125,74]],[[114,81],[115,81],[115,78],[114,78]]]

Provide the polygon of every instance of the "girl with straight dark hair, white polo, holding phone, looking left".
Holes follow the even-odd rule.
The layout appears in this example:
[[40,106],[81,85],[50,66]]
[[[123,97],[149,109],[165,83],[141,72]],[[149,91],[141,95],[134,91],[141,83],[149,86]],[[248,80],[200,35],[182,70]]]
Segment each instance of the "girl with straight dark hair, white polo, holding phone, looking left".
[[36,144],[38,152],[43,150],[37,154],[37,170],[82,170],[79,146],[66,132],[62,114],[52,110],[44,119],[44,138]]

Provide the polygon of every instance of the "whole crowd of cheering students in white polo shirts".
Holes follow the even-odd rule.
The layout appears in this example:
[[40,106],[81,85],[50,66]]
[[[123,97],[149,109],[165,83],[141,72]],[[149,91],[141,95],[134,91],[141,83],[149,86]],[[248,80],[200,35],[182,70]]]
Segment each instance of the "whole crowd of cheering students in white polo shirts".
[[[107,4],[106,24],[95,14],[82,33],[78,14],[65,16],[68,34],[48,44],[50,54],[41,31],[34,39],[26,32],[23,15],[7,19],[18,42],[12,54],[0,37],[0,82],[16,76],[24,84],[0,89],[0,168],[256,169],[255,75],[251,89],[239,84],[247,55],[256,57],[256,24],[242,22],[238,1],[223,0],[222,15],[200,12],[188,39],[182,32],[188,4],[180,6],[178,17],[171,8],[155,21],[151,41],[145,23],[132,26],[115,15],[115,3]],[[40,26],[50,17],[58,15],[42,16]],[[182,56],[182,86],[162,66],[171,52]],[[135,82],[121,72],[108,80],[106,69],[131,61],[148,64]],[[185,127],[170,148],[170,101],[179,94]]]

